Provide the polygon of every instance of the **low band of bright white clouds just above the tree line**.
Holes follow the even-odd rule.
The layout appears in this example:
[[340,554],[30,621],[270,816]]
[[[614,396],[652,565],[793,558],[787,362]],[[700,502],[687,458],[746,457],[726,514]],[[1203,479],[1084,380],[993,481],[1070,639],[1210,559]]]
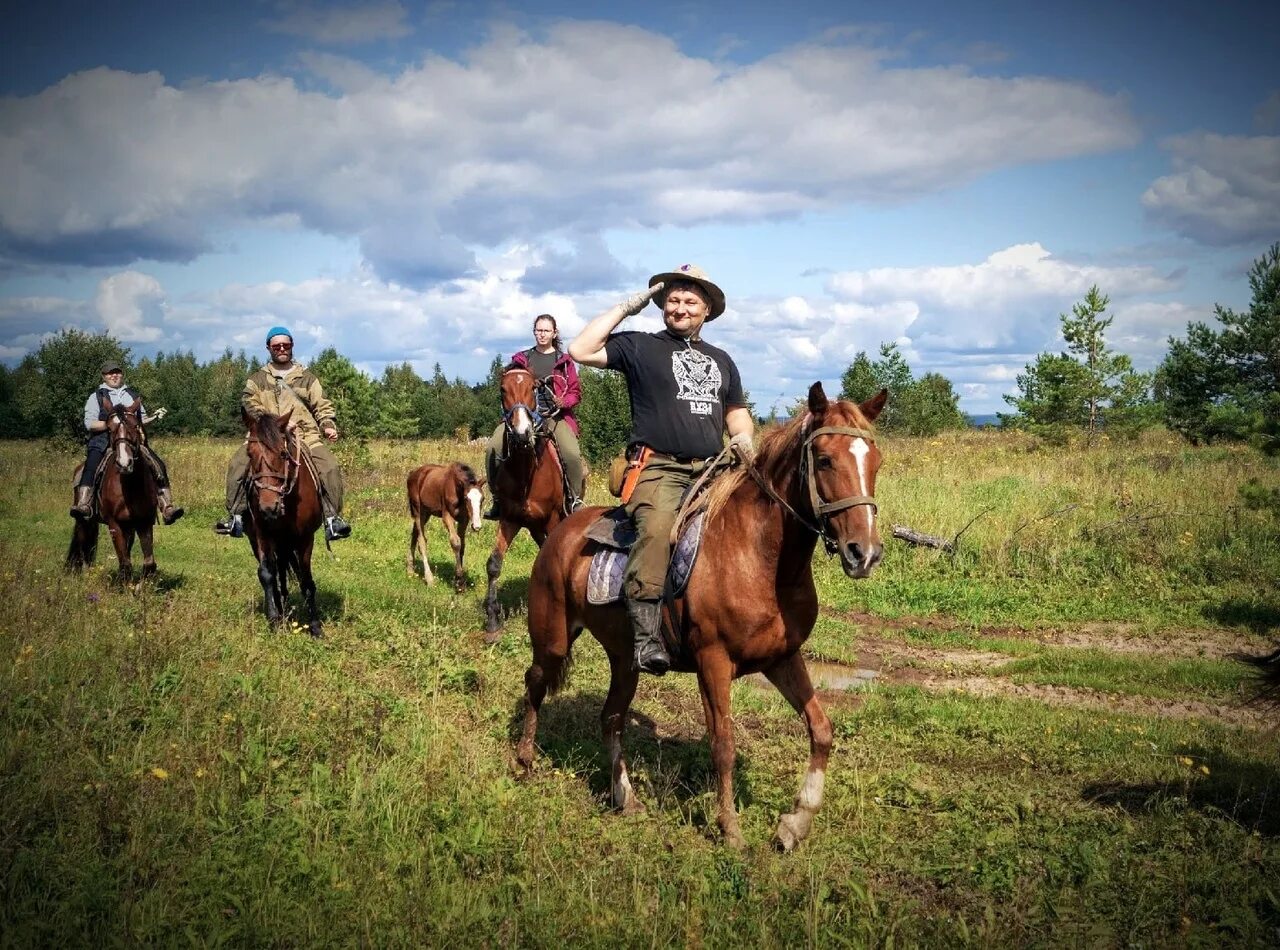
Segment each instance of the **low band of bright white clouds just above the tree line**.
[[[266,328],[284,324],[303,361],[333,346],[374,375],[407,360],[424,375],[439,362],[449,378],[475,380],[495,356],[530,346],[535,314],[553,314],[571,339],[616,302],[616,289],[531,293],[526,274],[544,260],[545,248],[521,246],[483,256],[474,274],[426,289],[366,269],[342,278],[232,284],[177,303],[154,278],[122,271],[101,283],[92,302],[0,300],[0,347],[15,358],[44,334],[78,325],[150,343],[143,351],[189,348],[209,360],[227,347],[261,355]],[[764,412],[776,402],[790,406],[815,379],[838,388],[860,351],[874,357],[888,341],[900,344],[916,374],[951,379],[965,394],[965,408],[992,411],[1037,352],[1062,346],[1059,314],[1093,283],[1112,300],[1108,338],[1140,369],[1158,361],[1170,334],[1180,335],[1189,320],[1210,311],[1158,300],[1176,289],[1174,278],[1073,264],[1029,245],[978,264],[846,271],[831,279],[828,292],[812,296],[733,296],[707,338],[733,355]],[[623,329],[660,325],[650,306]]]

